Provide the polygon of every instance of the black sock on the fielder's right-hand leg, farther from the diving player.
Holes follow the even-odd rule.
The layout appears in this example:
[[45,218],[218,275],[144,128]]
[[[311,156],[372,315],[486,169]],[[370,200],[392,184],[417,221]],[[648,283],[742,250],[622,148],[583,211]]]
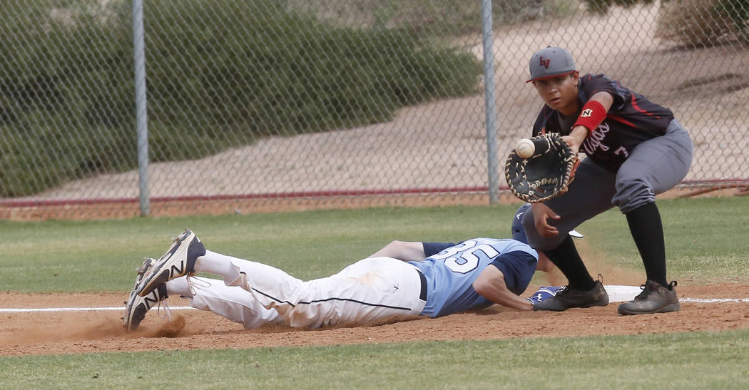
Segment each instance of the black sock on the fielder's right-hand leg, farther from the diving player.
[[643,204],[626,216],[648,279],[666,286],[666,244],[658,207],[655,203]]

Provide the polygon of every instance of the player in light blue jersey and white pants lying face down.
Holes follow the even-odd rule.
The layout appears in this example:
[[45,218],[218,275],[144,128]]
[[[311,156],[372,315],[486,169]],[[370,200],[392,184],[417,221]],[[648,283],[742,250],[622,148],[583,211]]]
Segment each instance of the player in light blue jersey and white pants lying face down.
[[[520,216],[513,219],[518,240],[475,238],[461,243],[393,241],[369,258],[335,275],[302,281],[249,260],[205,249],[184,231],[159,259],[146,259],[126,302],[126,329],[136,329],[145,314],[168,296],[189,298],[193,308],[212,311],[245,329],[284,324],[306,329],[364,324],[392,316],[441,317],[494,303],[533,310],[555,290],[521,298],[539,265],[526,243]],[[222,280],[194,276],[219,275]]]

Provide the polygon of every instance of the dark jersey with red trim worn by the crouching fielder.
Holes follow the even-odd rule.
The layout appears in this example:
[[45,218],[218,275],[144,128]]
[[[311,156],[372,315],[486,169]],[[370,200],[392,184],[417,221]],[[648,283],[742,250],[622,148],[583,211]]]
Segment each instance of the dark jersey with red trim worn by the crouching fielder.
[[[613,96],[613,105],[606,119],[580,145],[580,152],[611,171],[617,171],[640,142],[664,135],[668,124],[673,121],[670,109],[652,103],[605,75],[580,76],[578,87],[580,110],[596,92],[606,91]],[[533,135],[545,132],[568,135],[578,115],[580,111],[565,118],[544,105],[533,125]]]

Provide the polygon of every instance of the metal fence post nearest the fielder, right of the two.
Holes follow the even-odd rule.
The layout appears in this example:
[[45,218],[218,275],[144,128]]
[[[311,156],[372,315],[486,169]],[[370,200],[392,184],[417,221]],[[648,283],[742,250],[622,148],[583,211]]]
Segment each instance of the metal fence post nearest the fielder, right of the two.
[[486,106],[486,153],[489,204],[499,201],[499,161],[497,159],[497,105],[494,99],[494,50],[492,45],[491,0],[481,1],[481,31],[484,43],[484,102]]

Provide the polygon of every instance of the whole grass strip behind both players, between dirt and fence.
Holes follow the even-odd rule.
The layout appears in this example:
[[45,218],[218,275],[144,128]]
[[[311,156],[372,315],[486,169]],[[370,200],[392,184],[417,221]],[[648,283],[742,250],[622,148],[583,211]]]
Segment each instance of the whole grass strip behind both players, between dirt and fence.
[[[670,278],[749,281],[749,202],[658,202]],[[0,222],[0,286],[21,292],[124,291],[145,256],[158,258],[184,228],[208,249],[278,266],[298,278],[327,276],[390,240],[509,237],[516,206],[377,208],[244,216],[95,222]],[[642,269],[624,216],[610,210],[581,225],[586,244],[612,265]]]

